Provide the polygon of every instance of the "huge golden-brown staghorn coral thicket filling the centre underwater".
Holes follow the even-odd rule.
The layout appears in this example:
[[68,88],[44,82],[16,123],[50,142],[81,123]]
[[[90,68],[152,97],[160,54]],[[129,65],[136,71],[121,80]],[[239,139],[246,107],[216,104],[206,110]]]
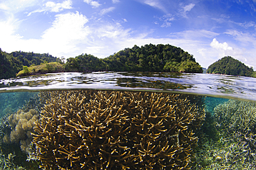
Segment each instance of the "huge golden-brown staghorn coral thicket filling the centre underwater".
[[43,169],[185,169],[204,112],[179,95],[53,91],[33,133]]

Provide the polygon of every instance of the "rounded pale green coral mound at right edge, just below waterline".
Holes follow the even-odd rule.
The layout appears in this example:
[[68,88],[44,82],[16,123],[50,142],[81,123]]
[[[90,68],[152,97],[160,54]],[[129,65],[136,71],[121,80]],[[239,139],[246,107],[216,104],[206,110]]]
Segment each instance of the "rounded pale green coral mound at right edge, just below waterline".
[[214,108],[217,127],[226,138],[245,141],[256,151],[256,104],[229,100]]

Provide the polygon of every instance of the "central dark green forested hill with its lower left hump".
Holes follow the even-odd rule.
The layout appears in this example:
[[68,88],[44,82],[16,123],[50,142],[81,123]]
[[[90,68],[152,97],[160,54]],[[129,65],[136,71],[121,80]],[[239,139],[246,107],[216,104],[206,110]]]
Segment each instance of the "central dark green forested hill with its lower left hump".
[[65,70],[203,73],[192,55],[169,44],[149,44],[141,47],[135,45],[104,59],[87,54],[79,55],[67,59]]

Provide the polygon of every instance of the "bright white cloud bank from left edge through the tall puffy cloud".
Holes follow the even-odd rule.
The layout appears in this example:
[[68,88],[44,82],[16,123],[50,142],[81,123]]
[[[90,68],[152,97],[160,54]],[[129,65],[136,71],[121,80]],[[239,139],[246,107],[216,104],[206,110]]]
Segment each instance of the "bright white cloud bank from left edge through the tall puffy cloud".
[[5,36],[5,39],[0,39],[0,46],[8,53],[23,50],[50,53],[56,57],[67,55],[72,57],[72,55],[78,55],[74,54],[75,52],[80,53],[79,44],[90,44],[88,37],[91,30],[86,23],[88,19],[79,12],[56,15],[51,28],[44,31],[40,39],[24,39],[15,35],[14,26],[10,25],[6,29],[12,31]]

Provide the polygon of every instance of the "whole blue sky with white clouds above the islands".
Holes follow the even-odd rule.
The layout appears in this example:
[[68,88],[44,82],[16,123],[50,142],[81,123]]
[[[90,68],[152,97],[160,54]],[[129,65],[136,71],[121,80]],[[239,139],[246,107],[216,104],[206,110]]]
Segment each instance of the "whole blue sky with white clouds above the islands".
[[171,44],[208,68],[230,55],[256,69],[256,0],[0,0],[0,48],[108,57]]

